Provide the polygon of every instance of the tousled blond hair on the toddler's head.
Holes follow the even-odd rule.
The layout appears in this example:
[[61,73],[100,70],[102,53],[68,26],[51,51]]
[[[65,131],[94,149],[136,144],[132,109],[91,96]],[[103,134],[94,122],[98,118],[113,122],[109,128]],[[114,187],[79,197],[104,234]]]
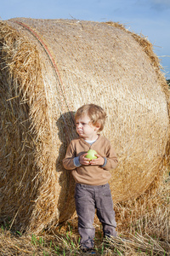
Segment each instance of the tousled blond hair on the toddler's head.
[[103,108],[94,104],[83,105],[81,108],[77,109],[77,113],[75,114],[75,120],[77,120],[84,114],[88,115],[91,120],[90,123],[92,125],[99,125],[99,131],[102,131],[104,129],[106,113]]

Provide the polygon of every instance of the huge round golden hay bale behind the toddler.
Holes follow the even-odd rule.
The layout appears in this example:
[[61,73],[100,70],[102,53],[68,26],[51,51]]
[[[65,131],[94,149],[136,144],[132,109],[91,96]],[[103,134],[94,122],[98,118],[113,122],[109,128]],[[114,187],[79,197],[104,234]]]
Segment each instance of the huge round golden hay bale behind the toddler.
[[0,216],[29,232],[71,217],[74,181],[62,159],[76,137],[73,115],[94,102],[119,157],[115,202],[137,197],[161,175],[167,154],[167,83],[152,45],[117,23],[0,22]]

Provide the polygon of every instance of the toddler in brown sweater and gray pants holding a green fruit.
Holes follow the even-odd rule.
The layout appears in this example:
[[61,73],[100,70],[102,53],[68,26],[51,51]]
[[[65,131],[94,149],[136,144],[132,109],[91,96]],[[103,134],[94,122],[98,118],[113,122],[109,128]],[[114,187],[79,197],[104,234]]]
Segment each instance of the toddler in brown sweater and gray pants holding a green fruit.
[[[103,108],[86,104],[78,108],[75,115],[79,137],[71,141],[67,148],[63,166],[71,170],[76,181],[75,202],[78,216],[78,232],[83,251],[94,248],[95,209],[103,226],[104,236],[116,236],[116,220],[108,183],[111,169],[116,168],[116,152],[108,139],[99,131],[104,129],[106,113]],[[86,156],[94,149],[96,159]]]

